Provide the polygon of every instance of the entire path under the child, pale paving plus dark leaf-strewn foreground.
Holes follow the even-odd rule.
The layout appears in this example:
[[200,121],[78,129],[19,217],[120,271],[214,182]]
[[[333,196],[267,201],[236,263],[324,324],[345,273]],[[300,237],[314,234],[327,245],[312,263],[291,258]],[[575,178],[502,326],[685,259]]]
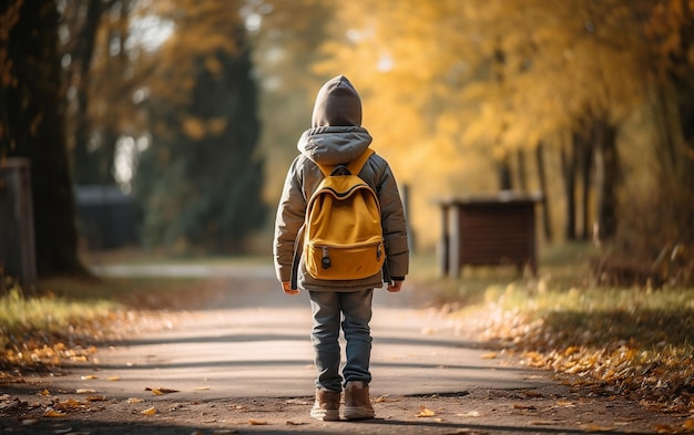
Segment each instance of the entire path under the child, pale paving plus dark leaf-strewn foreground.
[[[375,302],[377,418],[317,422],[306,300],[275,298],[266,276],[223,281],[202,309],[162,317],[171,328],[105,343],[85,364],[0,381],[0,433],[655,434],[682,433],[691,417],[520,366],[484,348],[479,318],[451,322],[408,288]],[[172,391],[145,390],[159,386]]]

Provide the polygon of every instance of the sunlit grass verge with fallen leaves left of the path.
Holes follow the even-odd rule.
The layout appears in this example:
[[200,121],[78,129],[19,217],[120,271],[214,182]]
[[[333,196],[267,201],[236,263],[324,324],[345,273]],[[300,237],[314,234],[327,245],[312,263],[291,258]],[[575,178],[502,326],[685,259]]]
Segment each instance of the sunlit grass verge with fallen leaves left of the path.
[[[195,292],[190,291],[192,287]],[[3,288],[0,370],[84,361],[94,344],[137,329],[136,315],[192,304],[205,291],[213,291],[192,278],[51,278],[41,280],[32,297],[9,280]]]

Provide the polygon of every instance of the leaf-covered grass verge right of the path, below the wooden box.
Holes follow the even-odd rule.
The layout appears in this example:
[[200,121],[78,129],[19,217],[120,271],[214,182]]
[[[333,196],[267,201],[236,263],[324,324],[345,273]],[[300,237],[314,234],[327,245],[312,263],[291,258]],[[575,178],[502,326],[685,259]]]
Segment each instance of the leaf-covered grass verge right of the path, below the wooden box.
[[598,287],[592,248],[548,249],[538,278],[465,271],[457,294],[490,344],[589,391],[661,410],[694,410],[694,288]]

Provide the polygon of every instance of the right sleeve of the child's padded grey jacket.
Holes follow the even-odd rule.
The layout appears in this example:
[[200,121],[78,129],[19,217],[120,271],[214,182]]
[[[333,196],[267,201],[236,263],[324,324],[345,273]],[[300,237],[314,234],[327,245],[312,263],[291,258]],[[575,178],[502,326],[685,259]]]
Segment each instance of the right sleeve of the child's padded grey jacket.
[[398,184],[390,166],[386,160],[379,166],[382,172],[378,176],[376,193],[380,203],[388,271],[392,278],[404,279],[409,271],[409,248],[405,210],[398,191]]

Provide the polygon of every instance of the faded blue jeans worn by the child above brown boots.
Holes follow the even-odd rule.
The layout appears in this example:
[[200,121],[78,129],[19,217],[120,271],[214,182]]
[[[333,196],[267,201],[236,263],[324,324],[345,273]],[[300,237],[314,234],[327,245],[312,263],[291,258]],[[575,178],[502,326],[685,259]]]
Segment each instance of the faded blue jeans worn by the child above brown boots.
[[[343,376],[345,384],[353,381],[371,382],[369,361],[371,358],[371,299],[374,290],[338,292],[310,291],[310,308],[314,328],[310,341],[314,345],[316,387],[340,392]],[[339,332],[345,333],[347,361],[339,373]]]

